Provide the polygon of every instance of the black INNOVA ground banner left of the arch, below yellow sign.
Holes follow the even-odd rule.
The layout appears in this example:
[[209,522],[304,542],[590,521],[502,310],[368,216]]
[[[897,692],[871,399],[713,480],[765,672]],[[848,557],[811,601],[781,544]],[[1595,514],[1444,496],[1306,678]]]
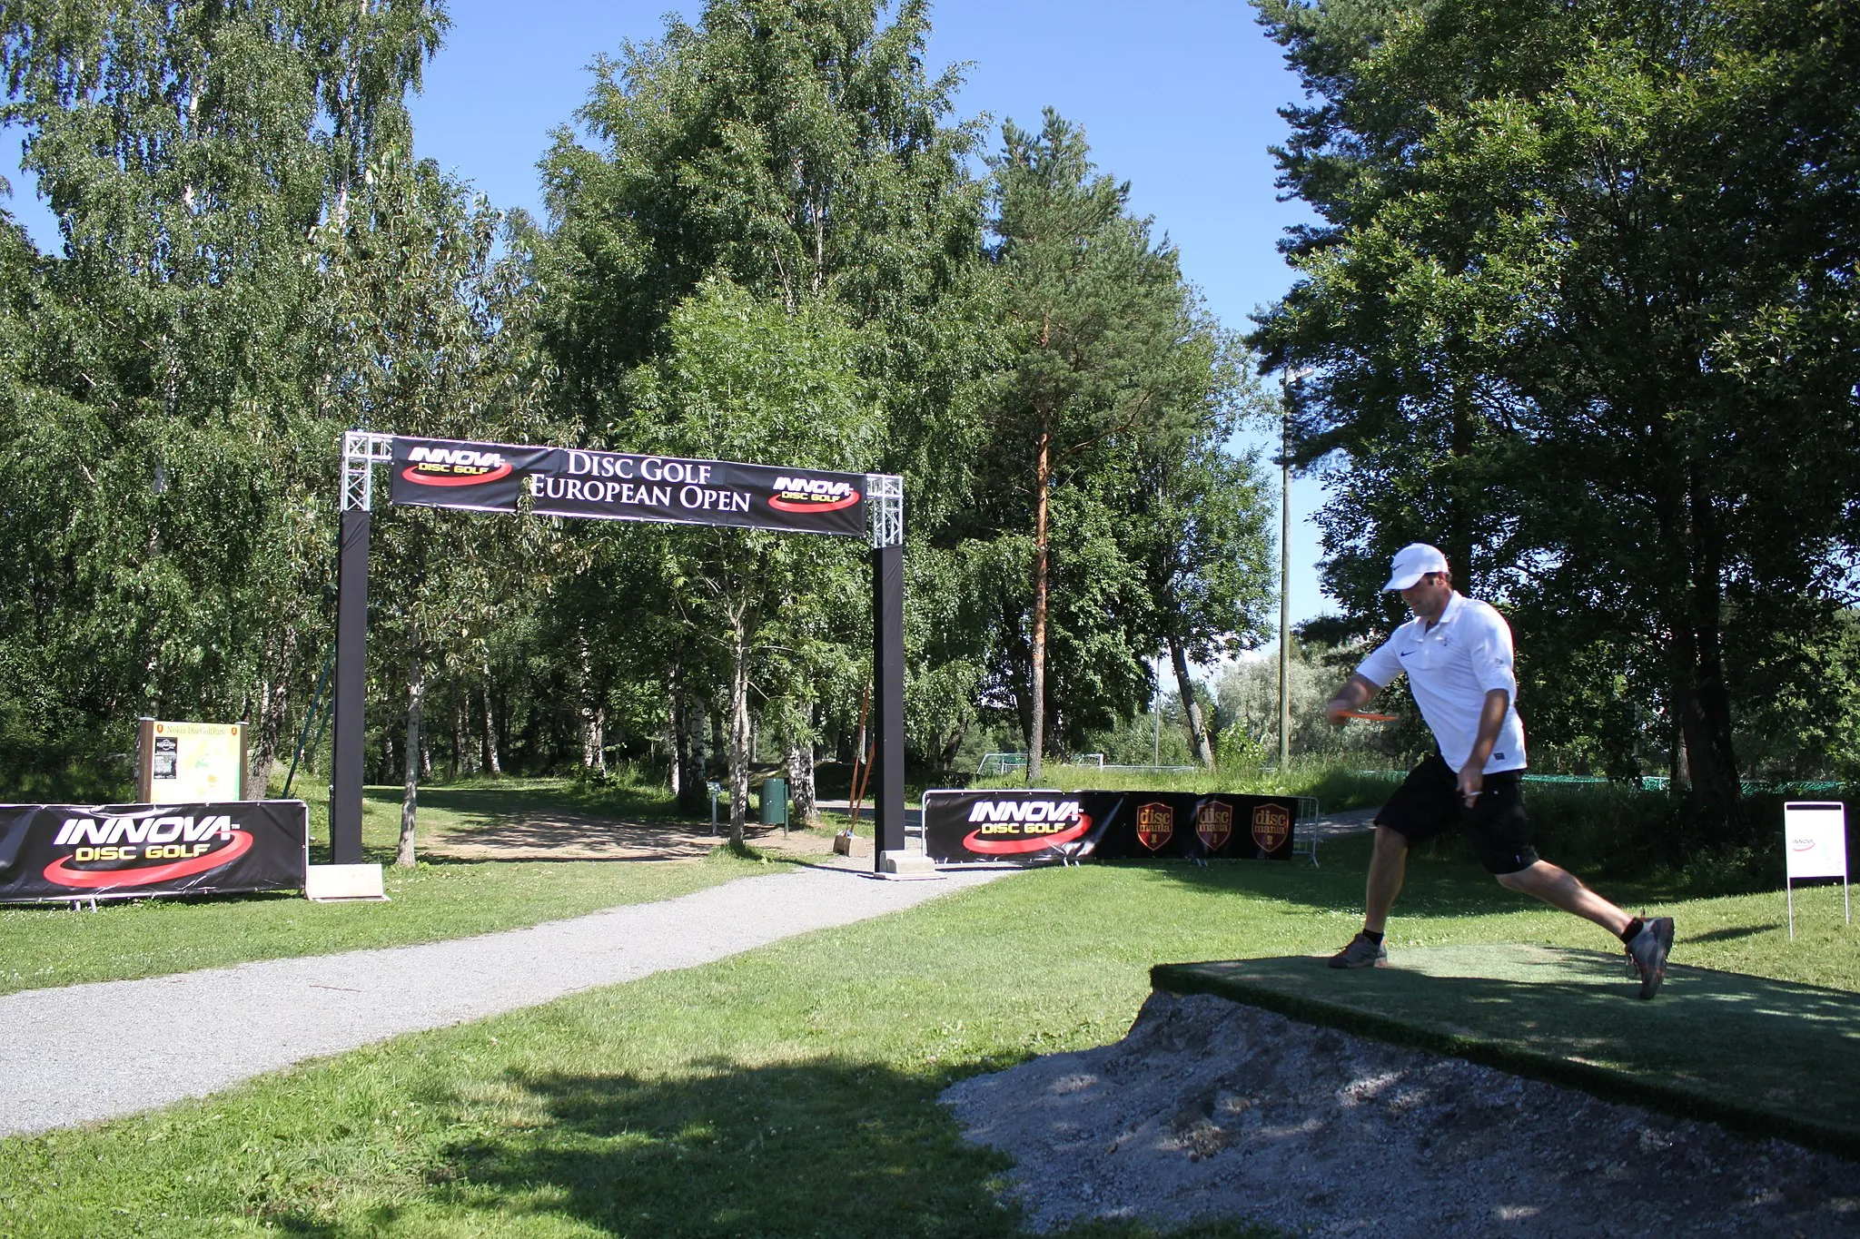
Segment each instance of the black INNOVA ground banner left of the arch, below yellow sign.
[[301,890],[303,801],[0,804],[0,903]]

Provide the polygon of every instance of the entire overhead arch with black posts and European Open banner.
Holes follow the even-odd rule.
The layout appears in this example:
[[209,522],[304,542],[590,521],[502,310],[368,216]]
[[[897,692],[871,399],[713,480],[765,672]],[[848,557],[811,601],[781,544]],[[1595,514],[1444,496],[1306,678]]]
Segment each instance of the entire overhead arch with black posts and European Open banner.
[[389,502],[402,505],[865,537],[872,548],[872,704],[878,711],[872,867],[884,871],[885,853],[904,849],[902,477],[348,431],[342,437],[329,804],[335,864],[361,860],[368,528],[379,464],[389,466]]

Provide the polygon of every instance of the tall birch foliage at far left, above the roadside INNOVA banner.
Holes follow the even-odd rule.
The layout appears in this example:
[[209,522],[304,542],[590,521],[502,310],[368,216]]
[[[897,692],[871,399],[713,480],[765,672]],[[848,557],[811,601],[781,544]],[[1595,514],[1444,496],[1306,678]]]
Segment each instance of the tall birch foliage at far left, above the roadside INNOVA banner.
[[0,778],[86,791],[138,713],[249,717],[270,765],[314,676],[340,429],[309,238],[405,143],[441,26],[420,2],[0,15],[4,115],[65,243],[0,247],[0,698],[32,702]]

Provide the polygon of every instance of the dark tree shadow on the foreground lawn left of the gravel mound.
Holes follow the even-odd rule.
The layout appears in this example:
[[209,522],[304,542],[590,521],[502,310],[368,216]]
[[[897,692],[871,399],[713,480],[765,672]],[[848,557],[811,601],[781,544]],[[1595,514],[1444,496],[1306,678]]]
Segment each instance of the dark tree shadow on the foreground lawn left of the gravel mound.
[[[539,1232],[571,1222],[608,1235],[1023,1233],[1017,1209],[997,1194],[1008,1157],[962,1142],[936,1103],[941,1079],[817,1059],[709,1063],[675,1079],[513,1072],[506,1083],[515,1096],[498,1102],[504,1122],[458,1115],[476,1131],[443,1146],[413,1200],[396,1193],[392,1213],[277,1220],[290,1233],[331,1237],[418,1233],[435,1217],[497,1233],[523,1219]],[[469,1109],[458,1098],[433,1105]],[[1056,1233],[1270,1232],[1099,1222]]]

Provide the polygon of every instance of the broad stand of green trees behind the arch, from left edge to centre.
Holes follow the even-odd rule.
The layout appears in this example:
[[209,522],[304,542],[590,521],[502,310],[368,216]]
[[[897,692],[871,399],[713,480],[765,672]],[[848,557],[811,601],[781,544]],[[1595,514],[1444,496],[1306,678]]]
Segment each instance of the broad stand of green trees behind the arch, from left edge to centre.
[[[0,219],[9,797],[128,795],[141,713],[247,719],[255,782],[311,723],[299,786],[327,773],[348,427],[902,474],[923,765],[1036,713],[1077,745],[1159,650],[1257,639],[1256,463],[1224,455],[1250,359],[1056,117],[975,175],[924,4],[711,0],[597,58],[547,225],[418,158],[404,98],[445,26],[432,0],[0,9],[4,119],[63,238]],[[852,541],[378,507],[366,754],[409,827],[435,776],[631,762],[701,812],[725,765],[746,802],[753,749],[854,756]]]

